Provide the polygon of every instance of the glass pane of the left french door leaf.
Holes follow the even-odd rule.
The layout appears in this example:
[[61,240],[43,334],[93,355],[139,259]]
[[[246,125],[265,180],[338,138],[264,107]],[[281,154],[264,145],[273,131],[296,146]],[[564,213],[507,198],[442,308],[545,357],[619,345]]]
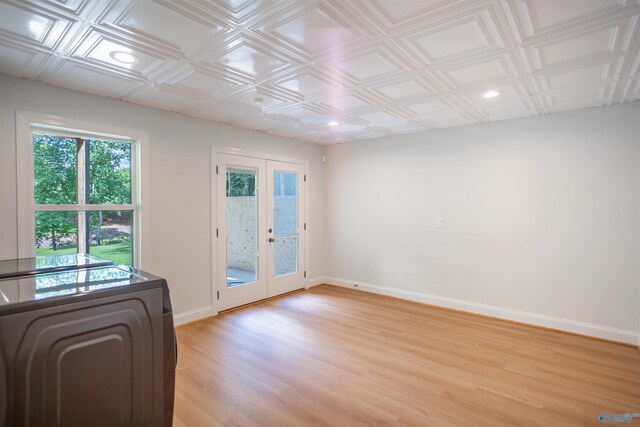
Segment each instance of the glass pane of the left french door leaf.
[[257,168],[226,167],[227,287],[258,280]]

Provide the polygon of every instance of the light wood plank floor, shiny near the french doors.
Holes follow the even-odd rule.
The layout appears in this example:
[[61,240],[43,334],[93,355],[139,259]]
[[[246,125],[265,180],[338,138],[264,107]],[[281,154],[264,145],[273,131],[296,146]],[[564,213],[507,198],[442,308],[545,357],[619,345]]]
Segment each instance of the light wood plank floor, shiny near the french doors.
[[176,426],[593,426],[640,412],[637,348],[333,286],[177,333]]

